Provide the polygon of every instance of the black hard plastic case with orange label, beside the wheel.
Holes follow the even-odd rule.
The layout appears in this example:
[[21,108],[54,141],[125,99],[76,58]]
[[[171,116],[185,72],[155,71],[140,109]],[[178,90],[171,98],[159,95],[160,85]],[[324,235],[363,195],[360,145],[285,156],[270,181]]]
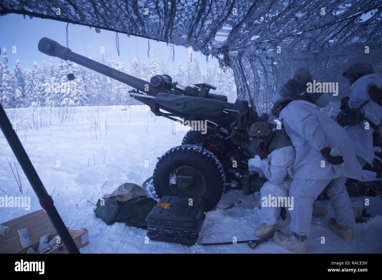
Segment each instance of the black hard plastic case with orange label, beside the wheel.
[[[189,205],[190,198],[192,206]],[[146,218],[147,236],[151,240],[194,245],[205,218],[203,199],[165,195],[160,202],[170,203],[170,209],[152,208]]]

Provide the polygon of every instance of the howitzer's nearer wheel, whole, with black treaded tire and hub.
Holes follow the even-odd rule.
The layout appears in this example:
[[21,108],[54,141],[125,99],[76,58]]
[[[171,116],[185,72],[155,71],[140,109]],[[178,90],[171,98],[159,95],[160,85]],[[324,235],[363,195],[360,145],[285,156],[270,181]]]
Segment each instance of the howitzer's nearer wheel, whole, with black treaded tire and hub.
[[[180,186],[177,180],[180,176],[191,177],[192,182]],[[159,198],[164,195],[201,197],[206,202],[205,211],[210,211],[222,197],[225,174],[222,164],[210,151],[200,146],[181,145],[159,159],[153,184]]]

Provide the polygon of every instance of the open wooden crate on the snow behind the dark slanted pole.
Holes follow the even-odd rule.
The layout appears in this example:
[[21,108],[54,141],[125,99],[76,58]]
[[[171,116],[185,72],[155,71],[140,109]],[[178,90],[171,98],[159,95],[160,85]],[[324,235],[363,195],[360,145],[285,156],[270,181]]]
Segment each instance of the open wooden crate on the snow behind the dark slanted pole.
[[[0,235],[0,253],[26,253],[29,248],[37,251],[39,247],[40,237],[48,235],[48,240],[51,240],[57,235],[55,228],[50,222],[47,214],[44,210],[35,211],[19,218],[13,219],[8,222],[2,223],[3,226],[10,226],[8,237]],[[32,245],[28,248],[22,248],[18,229],[28,229]],[[89,244],[89,233],[85,228],[80,230],[69,230],[70,235],[73,237],[74,243],[78,248]],[[54,253],[68,253],[65,246],[61,244],[57,248],[47,252],[49,254]]]

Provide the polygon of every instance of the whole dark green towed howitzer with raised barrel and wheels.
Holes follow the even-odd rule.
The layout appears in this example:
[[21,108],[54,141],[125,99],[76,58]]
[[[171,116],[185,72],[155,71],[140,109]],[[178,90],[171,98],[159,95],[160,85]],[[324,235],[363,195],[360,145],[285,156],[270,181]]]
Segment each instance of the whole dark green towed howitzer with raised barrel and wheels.
[[148,105],[157,116],[198,125],[199,130],[188,131],[182,145],[170,149],[157,162],[153,184],[159,197],[202,197],[208,211],[219,202],[226,187],[243,189],[249,195],[266,181],[248,170],[248,161],[256,154],[248,129],[254,122],[267,121],[268,116],[259,117],[248,101],[237,99],[230,103],[226,96],[210,93],[215,86],[207,83],[183,86],[167,74],[155,75],[147,82],[76,54],[45,37],[38,49],[131,86],[130,96]]

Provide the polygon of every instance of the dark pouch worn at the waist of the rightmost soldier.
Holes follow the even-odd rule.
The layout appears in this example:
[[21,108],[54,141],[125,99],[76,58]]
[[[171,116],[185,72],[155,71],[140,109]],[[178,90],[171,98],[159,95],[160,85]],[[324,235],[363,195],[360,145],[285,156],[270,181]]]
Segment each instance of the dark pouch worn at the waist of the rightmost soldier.
[[369,101],[365,101],[358,108],[350,108],[348,105],[349,97],[345,96],[341,99],[341,111],[337,114],[336,122],[340,126],[346,125],[356,125],[363,120],[365,117],[361,112],[363,106],[365,106]]

